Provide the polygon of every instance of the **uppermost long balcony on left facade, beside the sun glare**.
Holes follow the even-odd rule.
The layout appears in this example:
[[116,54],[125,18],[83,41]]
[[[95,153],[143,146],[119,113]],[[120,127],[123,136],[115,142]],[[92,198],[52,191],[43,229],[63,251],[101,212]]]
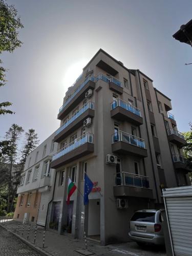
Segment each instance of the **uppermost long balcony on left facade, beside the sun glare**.
[[79,104],[89,89],[95,89],[95,76],[89,75],[86,80],[75,90],[75,92],[60,107],[58,119],[63,119],[70,111],[74,109],[74,105]]

